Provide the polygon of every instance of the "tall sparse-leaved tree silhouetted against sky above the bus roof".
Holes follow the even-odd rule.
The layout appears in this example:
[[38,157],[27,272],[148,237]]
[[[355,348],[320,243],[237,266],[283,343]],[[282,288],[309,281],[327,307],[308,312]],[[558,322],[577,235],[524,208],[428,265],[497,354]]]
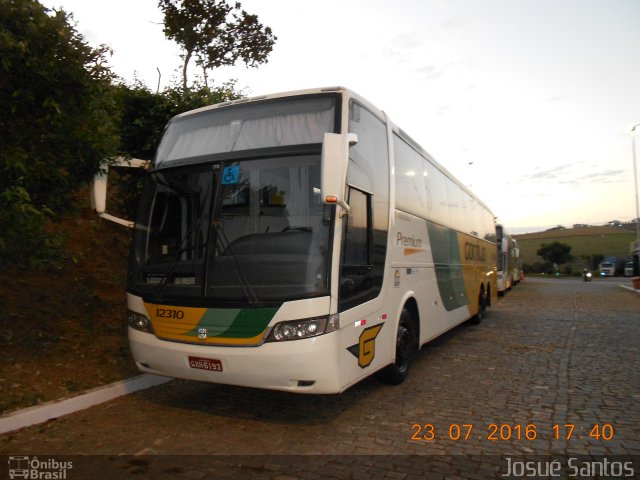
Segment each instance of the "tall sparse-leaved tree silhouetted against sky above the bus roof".
[[277,40],[271,28],[225,0],[159,0],[164,14],[164,34],[184,50],[182,87],[187,88],[187,67],[195,55],[205,74],[209,69],[235,65],[242,60],[257,67],[267,62]]

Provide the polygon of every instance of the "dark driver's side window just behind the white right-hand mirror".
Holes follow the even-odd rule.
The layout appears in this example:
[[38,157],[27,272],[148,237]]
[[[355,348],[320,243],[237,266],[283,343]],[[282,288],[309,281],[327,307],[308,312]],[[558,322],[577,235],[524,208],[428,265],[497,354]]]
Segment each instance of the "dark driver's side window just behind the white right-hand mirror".
[[351,213],[345,223],[342,268],[340,270],[340,310],[363,303],[376,295],[371,261],[371,195],[349,188]]

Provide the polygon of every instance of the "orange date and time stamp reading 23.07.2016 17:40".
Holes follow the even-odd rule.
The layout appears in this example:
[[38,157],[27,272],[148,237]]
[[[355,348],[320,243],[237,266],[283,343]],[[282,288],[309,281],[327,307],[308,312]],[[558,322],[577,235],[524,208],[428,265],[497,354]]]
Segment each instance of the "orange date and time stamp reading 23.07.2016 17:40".
[[413,423],[411,425],[411,441],[432,443],[439,440],[490,442],[508,442],[513,440],[534,441],[551,439],[568,441],[573,439],[593,439],[610,441],[615,436],[611,423],[594,423],[576,425],[573,423],[554,423],[538,426],[535,423],[449,423],[436,425],[433,423]]

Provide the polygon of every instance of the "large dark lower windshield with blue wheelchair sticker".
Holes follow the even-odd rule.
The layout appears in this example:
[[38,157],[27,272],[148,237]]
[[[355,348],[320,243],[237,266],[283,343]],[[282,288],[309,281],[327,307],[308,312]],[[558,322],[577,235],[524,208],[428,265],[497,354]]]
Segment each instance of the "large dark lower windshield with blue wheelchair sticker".
[[320,198],[318,154],[155,171],[136,221],[129,289],[215,303],[328,295],[333,210]]

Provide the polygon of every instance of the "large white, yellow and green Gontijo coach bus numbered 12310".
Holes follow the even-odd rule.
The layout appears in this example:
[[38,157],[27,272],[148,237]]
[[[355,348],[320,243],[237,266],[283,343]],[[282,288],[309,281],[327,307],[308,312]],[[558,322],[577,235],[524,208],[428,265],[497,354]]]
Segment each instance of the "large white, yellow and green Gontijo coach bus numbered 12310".
[[146,176],[127,288],[143,372],[304,393],[400,383],[496,294],[491,211],[344,88],[178,115]]

